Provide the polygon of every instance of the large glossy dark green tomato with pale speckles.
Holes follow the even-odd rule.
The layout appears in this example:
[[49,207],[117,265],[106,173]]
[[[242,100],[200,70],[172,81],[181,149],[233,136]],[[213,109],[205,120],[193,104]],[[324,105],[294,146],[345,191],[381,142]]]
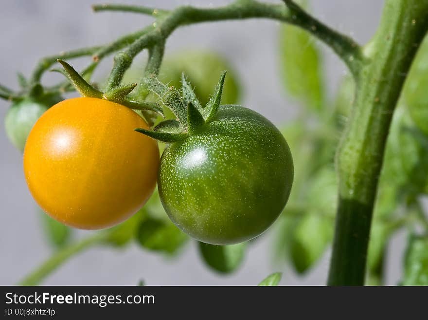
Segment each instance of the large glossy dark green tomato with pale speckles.
[[282,212],[293,161],[279,130],[241,106],[221,106],[200,133],[168,146],[158,188],[170,219],[201,242],[230,245],[263,233]]

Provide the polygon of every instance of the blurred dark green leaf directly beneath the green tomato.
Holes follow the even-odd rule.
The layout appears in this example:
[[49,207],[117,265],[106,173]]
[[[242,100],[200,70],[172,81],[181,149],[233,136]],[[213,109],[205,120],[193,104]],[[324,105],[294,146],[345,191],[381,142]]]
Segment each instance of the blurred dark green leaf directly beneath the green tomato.
[[236,245],[210,245],[199,242],[199,252],[215,271],[231,273],[243,263],[247,243]]

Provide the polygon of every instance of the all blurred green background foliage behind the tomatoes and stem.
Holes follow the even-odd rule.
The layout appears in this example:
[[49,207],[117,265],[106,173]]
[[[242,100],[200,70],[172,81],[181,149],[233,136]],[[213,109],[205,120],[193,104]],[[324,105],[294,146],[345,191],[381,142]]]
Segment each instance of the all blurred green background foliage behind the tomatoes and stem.
[[[318,43],[294,26],[280,26],[278,56],[284,91],[299,103],[300,109],[296,119],[289,119],[280,128],[293,155],[295,183],[288,204],[273,228],[276,232],[273,254],[276,263],[286,262],[303,275],[320,261],[333,239],[338,197],[335,150],[344,124],[352,116],[356,90],[353,78],[345,75],[334,96],[328,96]],[[229,73],[222,103],[234,104],[242,95],[239,77],[224,57],[210,51],[167,54],[160,80],[180,87],[184,72],[205,104],[218,75],[225,69]],[[124,82],[138,80],[142,72],[143,65],[134,65]],[[428,193],[427,87],[428,39],[406,80],[387,141],[367,258],[368,278],[373,284],[382,283],[385,254],[393,233],[402,226],[410,230],[416,225],[425,229],[428,226],[423,214],[419,219],[410,219],[410,207]],[[55,246],[67,244],[69,229],[46,215],[43,217],[50,242]],[[107,232],[108,245],[124,246],[135,240],[143,249],[166,256],[177,255],[189,242],[189,237],[168,219],[157,191],[136,215]],[[403,284],[428,284],[427,237],[412,234],[409,239]],[[198,243],[201,260],[223,274],[238,270],[247,247],[246,243],[227,246]],[[280,280],[281,273],[274,273],[259,285],[277,285]]]

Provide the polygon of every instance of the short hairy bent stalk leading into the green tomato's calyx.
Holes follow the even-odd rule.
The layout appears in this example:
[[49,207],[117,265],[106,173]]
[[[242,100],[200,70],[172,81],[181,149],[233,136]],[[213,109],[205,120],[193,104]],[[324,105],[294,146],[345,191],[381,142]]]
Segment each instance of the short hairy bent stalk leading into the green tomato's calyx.
[[148,90],[157,94],[162,103],[177,117],[183,128],[187,128],[187,110],[179,92],[174,87],[167,87],[156,77],[147,77],[143,83]]

